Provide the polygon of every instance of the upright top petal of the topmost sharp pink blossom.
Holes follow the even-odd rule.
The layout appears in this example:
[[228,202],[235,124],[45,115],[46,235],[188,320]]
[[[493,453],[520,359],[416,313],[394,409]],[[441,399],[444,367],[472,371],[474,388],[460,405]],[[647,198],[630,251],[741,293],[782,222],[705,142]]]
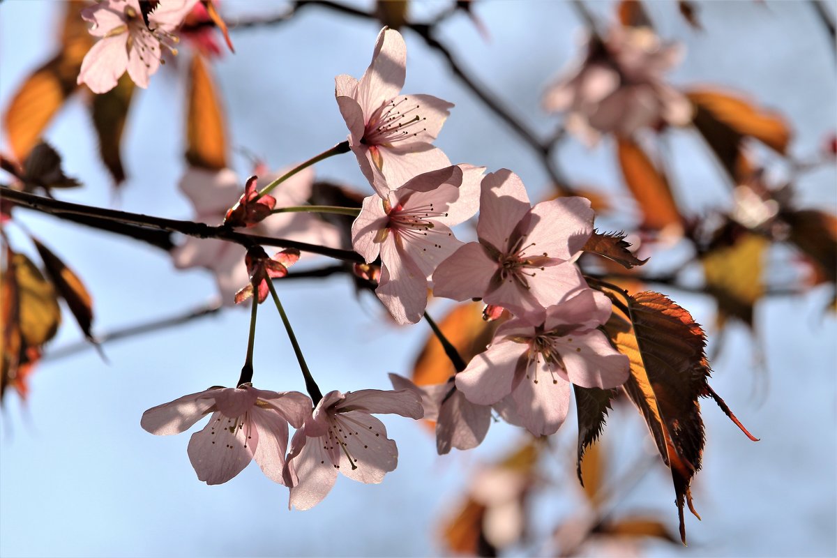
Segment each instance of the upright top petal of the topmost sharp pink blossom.
[[357,84],[357,102],[369,115],[398,95],[407,74],[407,45],[401,33],[383,28],[377,35],[372,63]]

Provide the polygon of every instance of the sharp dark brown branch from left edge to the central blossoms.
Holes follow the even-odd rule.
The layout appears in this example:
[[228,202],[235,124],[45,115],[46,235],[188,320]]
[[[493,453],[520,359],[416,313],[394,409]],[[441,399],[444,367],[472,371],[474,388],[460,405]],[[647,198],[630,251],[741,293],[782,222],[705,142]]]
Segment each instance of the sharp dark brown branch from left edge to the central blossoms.
[[232,228],[218,226],[213,227],[204,223],[193,221],[182,221],[179,219],[167,219],[106,209],[105,207],[90,207],[79,203],[61,202],[49,197],[35,196],[28,192],[18,192],[11,188],[0,188],[2,197],[12,200],[20,207],[28,207],[35,211],[49,213],[55,217],[68,219],[75,223],[84,223],[90,227],[98,228],[103,221],[113,223],[113,226],[106,228],[111,233],[120,233],[131,238],[139,238],[138,228],[145,231],[157,230],[167,233],[182,233],[196,238],[219,238],[239,243],[243,246],[262,244],[264,246],[278,246],[280,248],[296,248],[302,252],[318,253],[329,258],[343,259],[350,262],[362,263],[362,257],[351,250],[338,248],[327,248],[316,244],[300,243],[286,238],[270,238],[255,234],[239,233]]

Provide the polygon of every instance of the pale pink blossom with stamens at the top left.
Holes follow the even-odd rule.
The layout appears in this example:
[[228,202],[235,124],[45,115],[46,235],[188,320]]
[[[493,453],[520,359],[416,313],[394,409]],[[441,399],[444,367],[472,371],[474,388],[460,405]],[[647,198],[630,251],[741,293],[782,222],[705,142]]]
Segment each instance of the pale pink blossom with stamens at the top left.
[[93,23],[90,34],[100,39],[82,60],[77,83],[105,93],[127,71],[135,84],[147,88],[161,64],[161,45],[177,54],[172,33],[196,3],[160,0],[148,14],[147,26],[139,0],[104,0],[82,10],[81,17]]

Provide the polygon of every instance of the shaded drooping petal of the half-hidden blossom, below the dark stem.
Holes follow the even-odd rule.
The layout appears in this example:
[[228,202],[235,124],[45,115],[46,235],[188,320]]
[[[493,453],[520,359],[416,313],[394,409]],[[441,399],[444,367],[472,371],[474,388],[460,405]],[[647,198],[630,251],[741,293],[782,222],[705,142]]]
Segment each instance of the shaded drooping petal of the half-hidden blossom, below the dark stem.
[[[448,385],[444,384],[445,387]],[[436,421],[436,452],[444,455],[450,452],[450,448],[476,448],[485,439],[490,423],[491,407],[476,405],[468,401],[462,392],[454,391],[441,403]]]

